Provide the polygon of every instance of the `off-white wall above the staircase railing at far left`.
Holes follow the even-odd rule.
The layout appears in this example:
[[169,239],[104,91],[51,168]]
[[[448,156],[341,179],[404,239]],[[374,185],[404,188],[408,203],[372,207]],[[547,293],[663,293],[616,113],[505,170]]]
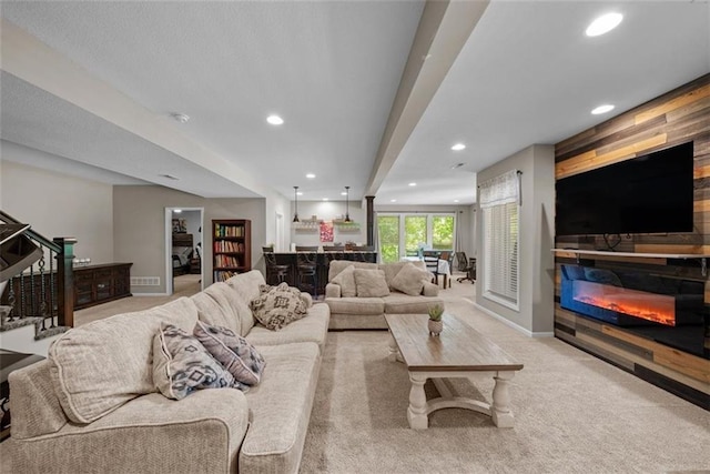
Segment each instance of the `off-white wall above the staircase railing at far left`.
[[[31,150],[31,149],[27,149]],[[3,154],[12,153],[3,147]],[[48,239],[73,236],[78,259],[113,262],[113,194],[110,184],[4,160],[2,210]]]

